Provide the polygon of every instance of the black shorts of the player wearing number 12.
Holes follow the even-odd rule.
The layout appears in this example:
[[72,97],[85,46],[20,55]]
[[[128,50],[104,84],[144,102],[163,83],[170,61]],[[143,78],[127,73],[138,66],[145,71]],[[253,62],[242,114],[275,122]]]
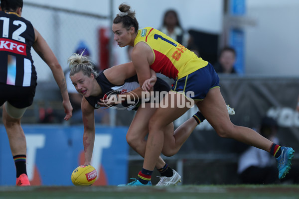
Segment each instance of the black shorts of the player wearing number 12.
[[35,87],[20,87],[0,83],[0,106],[8,101],[16,108],[25,108],[32,104],[35,95]]

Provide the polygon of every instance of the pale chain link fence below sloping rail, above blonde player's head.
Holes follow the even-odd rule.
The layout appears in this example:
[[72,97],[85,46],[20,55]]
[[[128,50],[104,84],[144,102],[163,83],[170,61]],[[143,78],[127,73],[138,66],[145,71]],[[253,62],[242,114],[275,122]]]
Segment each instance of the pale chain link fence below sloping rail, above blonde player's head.
[[[99,64],[99,29],[110,27],[110,16],[79,12],[58,7],[24,2],[22,16],[31,21],[66,70],[67,59],[84,41],[93,62]],[[38,82],[53,81],[47,65],[32,49]]]

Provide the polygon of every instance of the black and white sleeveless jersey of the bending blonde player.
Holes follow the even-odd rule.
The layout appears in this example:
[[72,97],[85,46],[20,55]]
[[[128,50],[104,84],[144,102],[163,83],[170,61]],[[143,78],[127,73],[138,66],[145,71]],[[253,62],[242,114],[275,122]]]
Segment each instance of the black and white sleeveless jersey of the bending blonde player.
[[[97,104],[100,101],[100,99],[105,99],[107,97],[107,95],[109,95],[113,91],[116,91],[115,94],[123,94],[123,93],[133,91],[133,90],[137,89],[138,87],[140,87],[139,83],[138,83],[137,75],[126,79],[125,83],[121,86],[117,86],[117,85],[110,83],[109,80],[106,78],[103,71],[99,74],[99,76],[96,78],[96,80],[102,89],[102,94],[99,96],[90,96],[88,98],[85,98],[89,102],[89,104],[91,106],[93,106],[94,108],[100,108],[100,106]],[[157,77],[157,81],[156,81],[155,85],[153,86],[153,91],[168,92],[169,90],[170,90],[169,85],[164,80]],[[122,103],[122,105],[124,107],[128,107],[128,103],[126,101],[124,101]],[[129,110],[131,110],[131,109],[129,109]]]

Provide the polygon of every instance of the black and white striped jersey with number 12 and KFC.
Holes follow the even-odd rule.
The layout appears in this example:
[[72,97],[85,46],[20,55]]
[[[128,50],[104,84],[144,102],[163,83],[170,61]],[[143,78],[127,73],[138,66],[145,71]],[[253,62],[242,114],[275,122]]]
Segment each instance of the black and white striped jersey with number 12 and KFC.
[[30,21],[14,13],[0,11],[0,83],[36,86],[31,57],[34,29]]

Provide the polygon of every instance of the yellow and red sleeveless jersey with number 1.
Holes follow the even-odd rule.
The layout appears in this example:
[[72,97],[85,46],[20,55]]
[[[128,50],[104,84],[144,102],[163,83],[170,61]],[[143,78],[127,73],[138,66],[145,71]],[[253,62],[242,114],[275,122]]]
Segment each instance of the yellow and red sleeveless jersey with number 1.
[[193,52],[164,33],[151,27],[138,31],[134,46],[145,42],[151,48],[154,61],[150,68],[172,79],[180,79],[208,65]]

